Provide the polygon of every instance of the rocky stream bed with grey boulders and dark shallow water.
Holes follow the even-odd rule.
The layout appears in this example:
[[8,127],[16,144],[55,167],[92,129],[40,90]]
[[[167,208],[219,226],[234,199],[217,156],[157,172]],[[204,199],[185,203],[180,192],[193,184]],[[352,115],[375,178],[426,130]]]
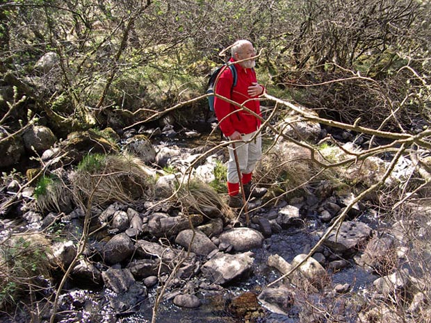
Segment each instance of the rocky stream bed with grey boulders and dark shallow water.
[[[148,133],[150,144],[140,137]],[[77,153],[97,148],[94,138],[72,147],[72,138],[45,147],[44,163],[54,165],[65,149]],[[209,149],[200,141],[206,138],[165,126],[123,133],[120,142],[149,165],[184,170]],[[223,149],[214,151],[195,165],[194,174],[211,181],[215,161],[225,162],[225,157]],[[65,172],[67,163],[62,160],[51,169]],[[408,169],[405,161],[398,174]],[[49,233],[54,267],[51,277],[38,277],[45,286],[33,299],[39,302],[38,321],[35,309],[21,303],[13,313],[1,314],[0,321],[49,322],[54,299],[48,298],[56,293],[54,322],[61,323],[152,322],[153,317],[162,323],[400,322],[387,305],[394,298],[402,295],[412,317],[425,306],[423,281],[405,265],[411,226],[387,220],[365,201],[352,203],[352,192],[340,194],[336,185],[321,181],[299,197],[271,203],[263,197],[254,201],[261,207],[250,211],[247,224],[244,216],[238,221],[227,217],[221,206],[190,207],[184,214],[184,208],[165,200],[174,180],[174,174],[158,175],[152,199],[93,208],[90,226],[97,230],[77,259],[86,212],[72,201],[60,210],[42,212],[32,207],[33,188],[20,190],[17,179],[6,183],[3,201],[13,194],[19,197],[2,212],[1,240],[23,232],[29,237]],[[421,205],[410,208],[428,217],[431,213]],[[415,230],[425,239],[424,226]],[[57,232],[61,239],[54,239]],[[56,288],[71,264],[59,292]],[[283,276],[296,265],[297,270]],[[20,297],[29,304],[26,294]]]

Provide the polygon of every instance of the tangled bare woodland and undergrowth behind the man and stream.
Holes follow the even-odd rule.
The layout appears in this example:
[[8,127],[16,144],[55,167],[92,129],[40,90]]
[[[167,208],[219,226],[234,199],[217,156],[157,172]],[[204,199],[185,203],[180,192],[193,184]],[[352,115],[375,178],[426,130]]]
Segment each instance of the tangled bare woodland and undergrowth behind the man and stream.
[[[61,141],[74,131],[200,122],[208,76],[226,59],[220,51],[245,38],[259,52],[263,106],[279,116],[304,106],[316,112],[304,119],[369,142],[320,167],[409,158],[414,176],[369,192],[380,190],[382,213],[412,199],[429,204],[430,17],[421,0],[1,0],[0,151],[13,154],[34,125]],[[0,169],[2,189],[40,164],[34,151],[12,160]],[[364,186],[355,187],[360,197]]]

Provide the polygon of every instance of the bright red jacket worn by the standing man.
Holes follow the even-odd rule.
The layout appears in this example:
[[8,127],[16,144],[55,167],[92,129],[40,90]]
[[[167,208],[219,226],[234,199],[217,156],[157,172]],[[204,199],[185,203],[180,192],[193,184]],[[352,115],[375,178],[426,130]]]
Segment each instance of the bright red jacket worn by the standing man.
[[[230,61],[233,62],[234,59],[231,58]],[[235,64],[234,66],[236,68],[238,78],[233,91],[231,92],[231,86],[234,83],[234,78],[231,70],[227,67],[220,74],[218,81],[215,84],[215,93],[239,104],[243,104],[247,100],[254,99],[247,101],[244,106],[260,116],[261,109],[259,100],[257,97],[250,97],[247,93],[248,87],[252,85],[252,83],[257,82],[256,72],[254,72],[254,69],[245,69],[239,64]],[[227,137],[234,133],[234,131],[238,131],[239,133],[252,133],[261,126],[260,119],[248,111],[242,110],[241,107],[228,103],[224,99],[218,97],[214,98],[214,110],[215,115],[220,122],[220,129]],[[229,117],[226,117],[234,110],[236,110],[236,113],[232,113]]]

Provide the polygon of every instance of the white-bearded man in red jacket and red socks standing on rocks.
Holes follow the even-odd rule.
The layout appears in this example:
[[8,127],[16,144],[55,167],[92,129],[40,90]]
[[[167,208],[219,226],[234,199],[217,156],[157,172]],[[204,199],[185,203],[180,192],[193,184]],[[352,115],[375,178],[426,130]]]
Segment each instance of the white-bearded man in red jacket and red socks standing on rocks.
[[[229,140],[241,140],[229,146],[229,162],[227,163],[227,191],[229,194],[229,206],[241,208],[243,200],[240,194],[240,180],[243,183],[245,198],[262,197],[266,193],[265,188],[256,188],[252,185],[252,173],[257,161],[261,159],[261,135],[257,133],[261,126],[261,120],[256,115],[261,115],[260,102],[257,99],[263,94],[265,88],[257,82],[254,72],[254,56],[256,51],[248,40],[238,40],[231,47],[231,59],[236,69],[237,81],[234,88],[234,78],[231,69],[224,69],[215,85],[215,93],[223,98],[235,101],[239,106],[227,102],[225,99],[215,97],[214,110],[220,129]],[[238,63],[235,63],[238,62]],[[249,111],[253,111],[253,115]],[[234,149],[238,156],[238,164],[241,178],[238,176]]]

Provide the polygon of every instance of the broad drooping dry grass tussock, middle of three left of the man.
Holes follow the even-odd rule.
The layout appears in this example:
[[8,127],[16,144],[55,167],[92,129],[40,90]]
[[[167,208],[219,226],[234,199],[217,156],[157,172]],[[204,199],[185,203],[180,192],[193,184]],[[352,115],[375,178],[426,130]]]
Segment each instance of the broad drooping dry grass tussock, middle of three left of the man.
[[129,203],[154,194],[154,172],[129,154],[89,155],[70,175],[76,204]]

